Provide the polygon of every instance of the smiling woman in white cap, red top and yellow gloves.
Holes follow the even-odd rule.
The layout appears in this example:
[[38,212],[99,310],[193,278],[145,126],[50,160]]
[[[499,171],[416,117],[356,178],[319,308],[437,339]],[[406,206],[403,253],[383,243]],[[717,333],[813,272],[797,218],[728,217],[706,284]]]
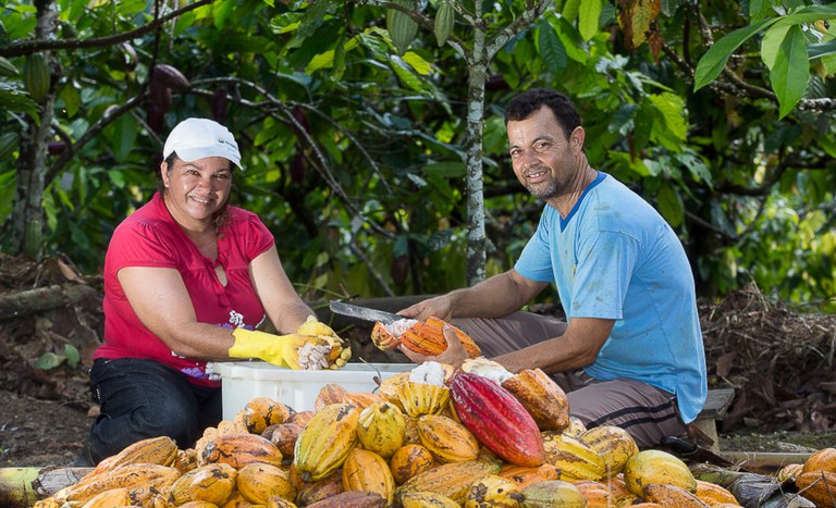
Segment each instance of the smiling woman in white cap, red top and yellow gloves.
[[[241,169],[232,134],[187,119],[165,140],[163,159],[160,190],[108,247],[104,344],[90,371],[101,414],[76,464],[161,435],[192,446],[222,414],[208,361],[315,369],[342,367],[351,356],[295,293],[263,223],[228,203]],[[265,318],[288,335],[255,331]]]

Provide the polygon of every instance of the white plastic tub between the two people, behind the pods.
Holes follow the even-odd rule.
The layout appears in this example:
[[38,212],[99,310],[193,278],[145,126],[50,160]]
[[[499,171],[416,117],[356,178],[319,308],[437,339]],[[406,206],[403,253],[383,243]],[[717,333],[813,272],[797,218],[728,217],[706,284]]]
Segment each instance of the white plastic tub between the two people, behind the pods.
[[371,392],[381,381],[417,367],[415,363],[348,363],[340,370],[295,371],[261,361],[217,362],[222,376],[223,419],[232,420],[256,397],[269,397],[296,411],[314,410],[322,386],[335,383],[348,393]]

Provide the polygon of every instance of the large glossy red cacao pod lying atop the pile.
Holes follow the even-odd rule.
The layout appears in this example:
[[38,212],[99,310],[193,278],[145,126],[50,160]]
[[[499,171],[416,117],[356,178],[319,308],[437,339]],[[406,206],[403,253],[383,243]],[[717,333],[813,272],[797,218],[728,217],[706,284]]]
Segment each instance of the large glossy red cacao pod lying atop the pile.
[[534,419],[499,383],[465,372],[453,379],[450,395],[462,423],[488,449],[513,464],[543,463],[543,438]]

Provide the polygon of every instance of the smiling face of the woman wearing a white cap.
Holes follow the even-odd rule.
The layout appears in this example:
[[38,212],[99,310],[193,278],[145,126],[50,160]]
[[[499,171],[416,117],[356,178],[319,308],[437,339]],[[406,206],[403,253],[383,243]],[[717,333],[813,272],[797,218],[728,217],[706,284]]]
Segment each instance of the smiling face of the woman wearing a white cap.
[[160,165],[169,211],[180,223],[211,222],[223,208],[232,186],[232,163],[223,157],[195,161],[176,159],[171,168]]

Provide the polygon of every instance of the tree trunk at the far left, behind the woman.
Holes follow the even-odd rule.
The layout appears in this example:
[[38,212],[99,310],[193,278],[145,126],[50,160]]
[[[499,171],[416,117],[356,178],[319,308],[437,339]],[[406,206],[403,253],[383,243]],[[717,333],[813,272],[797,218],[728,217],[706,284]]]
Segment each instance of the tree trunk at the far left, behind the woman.
[[[58,13],[53,0],[38,0],[38,39],[53,39],[58,27]],[[50,75],[54,77],[56,61],[51,51],[45,51]],[[44,190],[47,174],[47,146],[52,132],[52,116],[56,101],[50,79],[50,90],[38,104],[40,119],[28,119],[28,127],[21,143],[17,159],[17,186],[13,207],[11,250],[14,253],[40,260],[44,256]]]

